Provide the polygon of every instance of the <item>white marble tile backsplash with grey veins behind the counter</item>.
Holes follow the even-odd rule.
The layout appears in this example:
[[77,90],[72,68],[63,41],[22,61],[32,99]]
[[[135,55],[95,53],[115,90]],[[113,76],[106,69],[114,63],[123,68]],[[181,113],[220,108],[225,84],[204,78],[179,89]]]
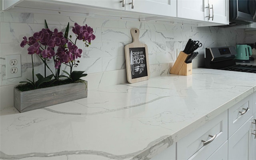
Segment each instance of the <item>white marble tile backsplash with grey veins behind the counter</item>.
[[[30,37],[44,28],[45,19],[52,30],[58,28],[64,32],[68,22],[70,28],[74,22],[80,25],[88,24],[93,28],[96,39],[92,44],[88,48],[83,48],[82,42],[78,44],[79,48],[83,48],[83,55],[76,68],[85,70],[88,74],[84,79],[88,80],[89,89],[127,82],[124,46],[132,42],[131,28],[139,28],[140,42],[148,45],[151,76],[167,73],[170,63],[176,60],[176,49],[184,49],[189,38],[199,40],[203,44],[202,48],[196,50],[199,55],[193,60],[194,67],[200,66],[206,47],[235,46],[236,43],[243,43],[245,38],[242,30],[160,21],[131,22],[8,11],[1,12],[0,18],[1,108],[13,105],[12,90],[16,84],[26,78],[32,78],[31,56],[27,54],[27,46],[20,47],[20,42],[24,36]],[[10,54],[21,54],[22,77],[6,79],[5,56]],[[43,73],[42,62],[37,58],[34,72]]]

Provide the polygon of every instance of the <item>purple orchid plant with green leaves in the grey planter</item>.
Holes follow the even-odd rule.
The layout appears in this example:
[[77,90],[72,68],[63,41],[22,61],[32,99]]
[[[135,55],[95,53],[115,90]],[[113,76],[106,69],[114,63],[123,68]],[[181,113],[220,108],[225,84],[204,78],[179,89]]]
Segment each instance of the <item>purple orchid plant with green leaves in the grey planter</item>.
[[[76,35],[74,42],[71,40],[72,36],[68,37],[69,23],[66,27],[66,31],[58,32],[58,29],[55,28],[52,32],[45,21],[45,28],[42,28],[41,31],[35,32],[33,36],[27,38],[23,37],[20,46],[23,48],[28,45],[28,54],[32,57],[32,80],[29,82],[22,81],[20,83],[29,84],[32,89],[41,88],[43,84],[45,86],[50,86],[60,80],[60,78],[66,78],[70,82],[78,82],[81,77],[87,76],[83,74],[84,71],[72,71],[73,67],[78,66],[79,60],[81,57],[82,49],[76,46],[77,40],[82,40],[86,47],[91,44],[91,40],[95,39],[93,34],[93,29],[90,26],[80,26],[77,23],[74,24],[72,32]],[[36,54],[44,63],[44,76],[41,74],[36,74],[38,78],[37,81],[34,80],[34,63],[33,55]],[[47,61],[53,60],[55,66],[55,73],[48,66]],[[70,73],[63,70],[68,76],[60,75],[61,65],[66,65],[70,68]],[[52,73],[49,76],[46,76],[46,68]],[[54,79],[52,79],[54,77]]]

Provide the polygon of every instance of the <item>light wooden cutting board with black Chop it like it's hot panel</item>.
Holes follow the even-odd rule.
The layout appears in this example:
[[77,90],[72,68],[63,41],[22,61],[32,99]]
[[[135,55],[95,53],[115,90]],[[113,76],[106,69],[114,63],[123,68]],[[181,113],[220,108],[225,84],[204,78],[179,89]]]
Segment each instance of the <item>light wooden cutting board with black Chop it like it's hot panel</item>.
[[140,30],[131,29],[133,42],[124,47],[127,80],[129,83],[148,80],[150,77],[148,46],[139,42]]

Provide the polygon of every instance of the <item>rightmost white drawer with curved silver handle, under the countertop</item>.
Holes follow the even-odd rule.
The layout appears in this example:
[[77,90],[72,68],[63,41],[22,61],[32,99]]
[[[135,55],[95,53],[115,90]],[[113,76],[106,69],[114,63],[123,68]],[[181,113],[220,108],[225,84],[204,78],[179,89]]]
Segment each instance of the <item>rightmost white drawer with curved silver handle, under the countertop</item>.
[[253,99],[251,94],[228,109],[228,137],[232,136],[252,116]]

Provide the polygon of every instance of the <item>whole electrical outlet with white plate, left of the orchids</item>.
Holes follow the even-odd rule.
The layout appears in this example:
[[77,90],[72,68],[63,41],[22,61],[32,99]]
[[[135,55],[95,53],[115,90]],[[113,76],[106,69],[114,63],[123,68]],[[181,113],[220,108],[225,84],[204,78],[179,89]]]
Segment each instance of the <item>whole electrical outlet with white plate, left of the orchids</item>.
[[20,54],[5,56],[6,79],[21,77]]

